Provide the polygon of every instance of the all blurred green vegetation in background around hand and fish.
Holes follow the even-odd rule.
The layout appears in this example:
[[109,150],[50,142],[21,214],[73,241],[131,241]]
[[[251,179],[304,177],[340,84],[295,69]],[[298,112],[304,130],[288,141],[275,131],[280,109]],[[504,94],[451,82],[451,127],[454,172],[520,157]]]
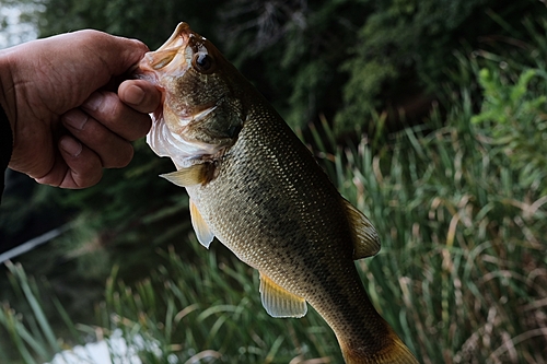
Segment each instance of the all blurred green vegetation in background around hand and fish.
[[[358,262],[363,283],[420,362],[547,362],[543,1],[0,5],[24,9],[39,36],[92,27],[151,49],[188,22],[373,221],[383,247]],[[313,310],[268,317],[256,272],[218,242],[199,246],[184,190],[156,177],[171,162],[135,149],[81,191],[9,173],[0,238],[67,231],[2,267],[0,362],[123,332],[143,363],[340,363]]]

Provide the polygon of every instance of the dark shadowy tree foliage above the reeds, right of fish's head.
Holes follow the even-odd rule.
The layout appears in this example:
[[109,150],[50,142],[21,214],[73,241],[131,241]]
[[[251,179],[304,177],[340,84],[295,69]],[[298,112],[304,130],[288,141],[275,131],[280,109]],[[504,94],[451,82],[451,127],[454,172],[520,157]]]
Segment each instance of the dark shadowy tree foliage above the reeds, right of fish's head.
[[219,39],[229,59],[291,126],[325,115],[337,136],[369,125],[373,111],[426,115],[454,81],[453,52],[525,44],[522,19],[547,13],[532,0],[234,0],[226,9]]

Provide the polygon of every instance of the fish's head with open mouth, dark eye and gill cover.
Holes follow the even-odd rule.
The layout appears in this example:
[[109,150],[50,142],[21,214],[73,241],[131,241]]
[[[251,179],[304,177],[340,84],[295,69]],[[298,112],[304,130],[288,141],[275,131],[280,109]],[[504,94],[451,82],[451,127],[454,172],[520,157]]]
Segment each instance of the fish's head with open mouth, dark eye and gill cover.
[[165,44],[144,55],[136,75],[163,94],[147,137],[156,154],[183,167],[233,145],[245,118],[233,80],[241,75],[187,23],[179,23]]

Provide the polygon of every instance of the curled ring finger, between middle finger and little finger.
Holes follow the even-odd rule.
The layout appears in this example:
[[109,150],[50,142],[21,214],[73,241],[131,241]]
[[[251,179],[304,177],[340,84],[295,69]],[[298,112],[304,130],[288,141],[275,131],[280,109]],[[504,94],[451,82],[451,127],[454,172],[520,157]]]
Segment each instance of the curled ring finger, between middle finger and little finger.
[[131,143],[82,110],[69,110],[62,115],[61,122],[74,138],[98,155],[103,167],[120,168],[131,162]]

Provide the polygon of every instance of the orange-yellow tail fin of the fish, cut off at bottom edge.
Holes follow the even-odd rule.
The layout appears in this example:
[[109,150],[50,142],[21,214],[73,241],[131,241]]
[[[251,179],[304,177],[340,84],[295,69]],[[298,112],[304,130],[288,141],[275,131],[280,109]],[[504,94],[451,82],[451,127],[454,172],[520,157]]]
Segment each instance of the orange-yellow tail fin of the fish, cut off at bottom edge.
[[384,350],[371,354],[341,347],[346,364],[419,364],[410,350],[393,333],[393,342]]

